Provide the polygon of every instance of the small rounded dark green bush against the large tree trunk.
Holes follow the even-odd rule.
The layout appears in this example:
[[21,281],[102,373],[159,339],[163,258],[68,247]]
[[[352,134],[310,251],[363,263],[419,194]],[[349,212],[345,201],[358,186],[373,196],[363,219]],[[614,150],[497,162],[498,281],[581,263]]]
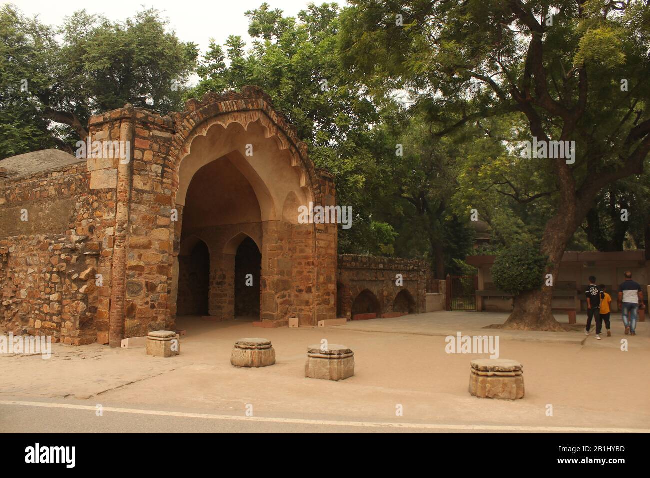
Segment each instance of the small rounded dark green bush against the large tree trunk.
[[539,289],[544,283],[547,261],[548,257],[541,256],[536,246],[512,246],[495,259],[492,280],[500,290],[515,295]]

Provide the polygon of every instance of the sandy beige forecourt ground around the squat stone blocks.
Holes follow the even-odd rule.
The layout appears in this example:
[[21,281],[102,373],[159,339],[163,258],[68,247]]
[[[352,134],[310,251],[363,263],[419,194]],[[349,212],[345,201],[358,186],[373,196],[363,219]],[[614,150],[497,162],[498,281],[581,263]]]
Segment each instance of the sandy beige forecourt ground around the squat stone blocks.
[[[613,321],[612,338],[582,332],[500,332],[504,314],[436,312],[331,328],[253,328],[250,322],[179,319],[181,354],[144,349],[53,345],[53,356],[0,356],[0,400],[64,399],[256,416],[468,425],[650,429],[650,328],[635,337]],[[584,318],[583,318],[584,320]],[[580,318],[578,318],[580,322]],[[519,401],[469,395],[469,362],[487,355],[447,354],[445,336],[500,334],[500,357],[524,365]],[[541,336],[537,337],[539,334]],[[272,340],[277,363],[242,369],[229,362],[244,337]],[[621,339],[629,351],[621,351]],[[356,375],[340,382],[304,377],[307,345],[328,339],[355,352]],[[402,405],[403,417],[396,417]],[[547,416],[549,405],[552,416]],[[65,430],[60,430],[65,431]]]

